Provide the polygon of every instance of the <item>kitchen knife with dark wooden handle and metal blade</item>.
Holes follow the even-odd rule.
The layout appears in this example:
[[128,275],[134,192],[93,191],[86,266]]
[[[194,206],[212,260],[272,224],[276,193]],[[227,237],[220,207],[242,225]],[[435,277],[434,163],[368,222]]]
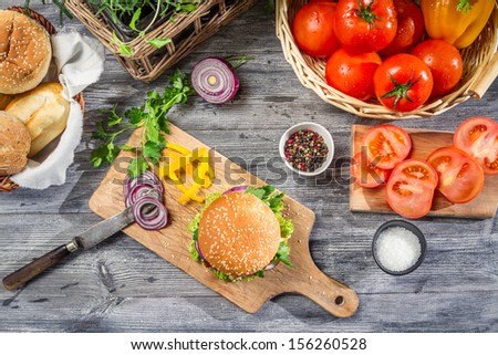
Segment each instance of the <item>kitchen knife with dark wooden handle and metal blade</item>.
[[95,247],[101,241],[131,225],[134,220],[132,207],[128,207],[124,211],[89,228],[80,236],[74,237],[70,242],[55,248],[43,257],[33,260],[25,267],[7,275],[3,279],[3,286],[9,291],[19,288],[69,254],[77,250],[86,250]]

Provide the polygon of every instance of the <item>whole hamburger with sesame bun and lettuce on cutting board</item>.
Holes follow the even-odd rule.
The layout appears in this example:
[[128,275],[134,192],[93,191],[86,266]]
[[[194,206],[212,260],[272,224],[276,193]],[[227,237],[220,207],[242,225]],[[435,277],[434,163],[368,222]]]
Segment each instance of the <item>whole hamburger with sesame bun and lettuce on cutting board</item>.
[[280,261],[291,265],[293,223],[282,217],[283,196],[269,185],[210,195],[188,226],[193,259],[226,281],[263,278]]

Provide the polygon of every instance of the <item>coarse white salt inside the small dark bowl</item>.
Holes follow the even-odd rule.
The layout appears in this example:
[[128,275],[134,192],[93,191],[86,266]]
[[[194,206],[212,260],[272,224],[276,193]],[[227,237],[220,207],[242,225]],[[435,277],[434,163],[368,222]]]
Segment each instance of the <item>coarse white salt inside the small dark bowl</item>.
[[417,236],[403,227],[391,227],[378,236],[375,243],[377,261],[386,269],[401,272],[412,268],[422,253]]

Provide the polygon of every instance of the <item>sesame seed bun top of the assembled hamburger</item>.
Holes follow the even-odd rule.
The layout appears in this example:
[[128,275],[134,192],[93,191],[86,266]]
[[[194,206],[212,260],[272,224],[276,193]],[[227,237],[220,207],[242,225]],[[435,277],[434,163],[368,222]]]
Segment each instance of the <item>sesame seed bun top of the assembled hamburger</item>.
[[256,196],[230,192],[204,211],[199,248],[209,264],[231,276],[245,276],[267,267],[281,241],[273,211]]

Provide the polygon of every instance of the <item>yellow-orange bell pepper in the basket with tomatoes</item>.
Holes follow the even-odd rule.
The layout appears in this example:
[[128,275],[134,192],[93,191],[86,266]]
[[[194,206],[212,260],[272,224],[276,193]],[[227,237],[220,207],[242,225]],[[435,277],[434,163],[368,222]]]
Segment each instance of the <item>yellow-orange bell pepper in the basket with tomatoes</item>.
[[495,0],[421,0],[428,35],[458,49],[477,39],[495,6]]

